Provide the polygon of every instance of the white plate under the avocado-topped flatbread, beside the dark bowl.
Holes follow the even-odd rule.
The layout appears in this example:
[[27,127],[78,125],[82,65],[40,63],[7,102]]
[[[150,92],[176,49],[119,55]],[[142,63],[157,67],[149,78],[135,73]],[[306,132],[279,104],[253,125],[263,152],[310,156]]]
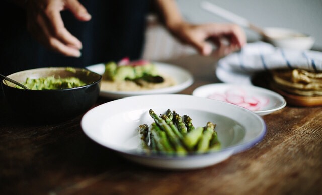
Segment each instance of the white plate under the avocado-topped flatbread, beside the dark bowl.
[[[177,93],[188,88],[194,82],[192,74],[181,67],[178,67],[176,65],[160,63],[160,62],[153,62],[153,63],[156,65],[160,74],[165,74],[174,78],[177,84],[175,86],[166,87],[166,88],[141,90],[141,91],[101,90],[100,96],[118,99],[122,97],[137,96],[137,95]],[[96,65],[88,66],[86,68],[101,75],[105,71],[104,64],[96,64]]]

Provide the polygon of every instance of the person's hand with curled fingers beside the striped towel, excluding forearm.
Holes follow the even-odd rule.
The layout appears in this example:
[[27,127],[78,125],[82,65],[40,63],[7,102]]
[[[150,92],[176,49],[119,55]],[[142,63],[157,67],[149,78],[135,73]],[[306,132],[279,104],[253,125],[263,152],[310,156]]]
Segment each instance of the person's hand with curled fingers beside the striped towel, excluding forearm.
[[171,32],[182,42],[195,47],[201,55],[210,55],[213,46],[228,54],[243,47],[246,43],[246,36],[238,25],[209,23],[192,25],[182,23],[170,29]]

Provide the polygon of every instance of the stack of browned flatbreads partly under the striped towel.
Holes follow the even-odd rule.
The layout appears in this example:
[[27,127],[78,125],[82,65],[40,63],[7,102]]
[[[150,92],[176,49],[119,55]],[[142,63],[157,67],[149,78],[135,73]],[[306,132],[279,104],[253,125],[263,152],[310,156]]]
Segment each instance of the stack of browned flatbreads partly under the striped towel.
[[272,71],[273,86],[289,94],[322,96],[322,72],[303,69]]

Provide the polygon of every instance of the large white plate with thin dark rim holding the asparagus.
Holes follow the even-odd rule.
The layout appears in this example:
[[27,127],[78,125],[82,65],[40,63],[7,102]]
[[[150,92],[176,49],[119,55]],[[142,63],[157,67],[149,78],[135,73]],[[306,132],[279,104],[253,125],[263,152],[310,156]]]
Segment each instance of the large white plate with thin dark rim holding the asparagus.
[[[139,152],[137,127],[153,122],[149,109],[157,114],[171,109],[180,115],[189,115],[196,127],[205,126],[208,121],[216,123],[222,149],[184,157]],[[263,139],[266,132],[263,119],[247,109],[183,94],[142,95],[107,102],[88,111],[81,126],[88,137],[123,157],[163,169],[195,169],[219,163],[252,147]]]

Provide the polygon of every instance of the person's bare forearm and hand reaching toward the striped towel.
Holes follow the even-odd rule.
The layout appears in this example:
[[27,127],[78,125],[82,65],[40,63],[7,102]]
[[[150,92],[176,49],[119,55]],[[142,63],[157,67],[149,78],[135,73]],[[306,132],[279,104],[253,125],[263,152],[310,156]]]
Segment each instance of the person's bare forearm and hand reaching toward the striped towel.
[[156,4],[167,29],[181,42],[194,46],[201,55],[209,55],[212,52],[212,46],[207,42],[208,40],[219,48],[223,46],[223,38],[228,40],[227,53],[241,48],[246,43],[245,33],[238,25],[190,24],[182,18],[175,0],[156,0]]

